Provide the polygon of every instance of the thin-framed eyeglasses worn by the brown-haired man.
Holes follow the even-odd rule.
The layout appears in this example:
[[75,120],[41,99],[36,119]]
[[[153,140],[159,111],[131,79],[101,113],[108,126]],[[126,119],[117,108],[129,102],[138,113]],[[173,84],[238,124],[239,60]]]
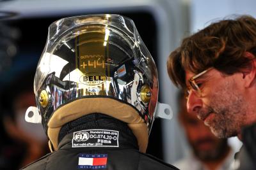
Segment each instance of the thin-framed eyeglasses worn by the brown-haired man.
[[203,74],[207,73],[207,71],[211,70],[213,67],[210,67],[209,69],[205,69],[201,73],[196,74],[195,76],[191,77],[188,81],[189,85],[187,86],[187,89],[185,90],[185,97],[188,99],[189,93],[191,90],[195,92],[196,96],[201,97],[202,91],[200,90],[200,85],[196,83],[196,78],[202,76]]

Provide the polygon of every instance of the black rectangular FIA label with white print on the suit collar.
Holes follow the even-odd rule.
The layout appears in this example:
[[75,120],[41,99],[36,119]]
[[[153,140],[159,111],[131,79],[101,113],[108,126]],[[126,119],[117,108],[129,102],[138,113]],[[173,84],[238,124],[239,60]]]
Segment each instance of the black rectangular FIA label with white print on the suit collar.
[[74,132],[72,148],[77,147],[119,147],[119,131],[90,129]]

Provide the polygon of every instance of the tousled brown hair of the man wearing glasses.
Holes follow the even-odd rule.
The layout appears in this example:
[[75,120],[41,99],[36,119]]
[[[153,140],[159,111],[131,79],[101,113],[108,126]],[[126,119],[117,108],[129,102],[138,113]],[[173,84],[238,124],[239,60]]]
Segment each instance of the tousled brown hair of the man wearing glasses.
[[221,20],[183,39],[168,58],[168,74],[175,85],[183,88],[185,70],[197,74],[214,67],[221,73],[234,74],[250,64],[245,52],[256,54],[255,18],[242,15]]

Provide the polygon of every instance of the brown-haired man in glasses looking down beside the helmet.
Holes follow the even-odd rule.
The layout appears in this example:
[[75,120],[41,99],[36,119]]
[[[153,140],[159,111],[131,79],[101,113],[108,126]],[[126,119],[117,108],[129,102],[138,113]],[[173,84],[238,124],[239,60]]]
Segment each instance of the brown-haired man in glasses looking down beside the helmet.
[[185,38],[167,62],[171,80],[186,92],[188,112],[215,136],[243,141],[239,169],[256,168],[255,56],[256,20],[243,15]]

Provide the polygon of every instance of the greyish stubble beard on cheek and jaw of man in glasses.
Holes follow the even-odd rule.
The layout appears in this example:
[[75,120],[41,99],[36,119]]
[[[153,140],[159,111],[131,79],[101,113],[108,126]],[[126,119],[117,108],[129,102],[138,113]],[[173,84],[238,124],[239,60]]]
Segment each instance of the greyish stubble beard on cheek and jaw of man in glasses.
[[218,138],[237,136],[244,124],[246,103],[233,81],[225,81],[223,87],[216,89],[211,97],[205,113],[215,114],[214,118],[205,122]]

